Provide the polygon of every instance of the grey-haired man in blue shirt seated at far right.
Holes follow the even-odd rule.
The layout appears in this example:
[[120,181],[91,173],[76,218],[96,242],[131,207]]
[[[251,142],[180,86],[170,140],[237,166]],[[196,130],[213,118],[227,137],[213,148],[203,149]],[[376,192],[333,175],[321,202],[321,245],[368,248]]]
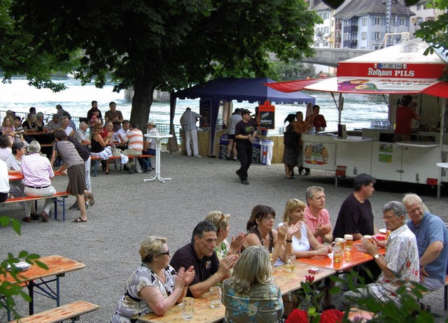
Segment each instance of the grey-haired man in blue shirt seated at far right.
[[406,194],[402,199],[410,220],[407,227],[415,234],[419,247],[420,283],[429,291],[444,285],[448,261],[448,229],[429,212],[420,196]]

